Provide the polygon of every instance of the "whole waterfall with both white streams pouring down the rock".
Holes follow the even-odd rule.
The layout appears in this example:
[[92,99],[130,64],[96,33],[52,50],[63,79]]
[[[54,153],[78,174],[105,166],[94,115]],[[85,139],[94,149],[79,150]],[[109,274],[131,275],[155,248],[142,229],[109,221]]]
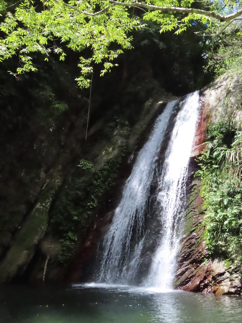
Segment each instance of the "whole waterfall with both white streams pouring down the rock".
[[[153,239],[156,241],[153,260],[142,285],[164,290],[171,286],[181,232],[179,218],[185,197],[187,165],[196,131],[198,99],[197,91],[188,94],[182,101],[169,102],[156,119],[148,141],[137,155],[121,201],[102,241],[98,282],[134,285],[144,247]],[[177,113],[175,120],[172,119],[174,113]],[[159,172],[158,156],[167,133],[171,131],[167,129],[170,121],[174,123],[174,128]],[[158,182],[156,236],[150,232],[151,228],[144,225],[154,176]]]

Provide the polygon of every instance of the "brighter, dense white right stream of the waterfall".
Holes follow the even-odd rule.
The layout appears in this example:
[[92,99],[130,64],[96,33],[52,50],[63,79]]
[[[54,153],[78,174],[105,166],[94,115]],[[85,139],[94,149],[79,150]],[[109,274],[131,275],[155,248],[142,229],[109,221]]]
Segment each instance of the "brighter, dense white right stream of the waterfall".
[[177,115],[159,181],[157,202],[161,209],[160,245],[153,257],[145,285],[163,291],[171,288],[175,269],[180,240],[180,228],[177,225],[186,193],[187,166],[196,131],[198,100],[198,91],[188,94]]

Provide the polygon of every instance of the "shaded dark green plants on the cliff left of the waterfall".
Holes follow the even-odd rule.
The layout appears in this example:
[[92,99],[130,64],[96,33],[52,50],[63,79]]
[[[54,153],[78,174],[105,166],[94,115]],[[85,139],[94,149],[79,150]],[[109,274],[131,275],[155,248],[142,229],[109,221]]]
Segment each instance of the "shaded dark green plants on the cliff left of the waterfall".
[[85,170],[84,174],[81,176],[79,172],[80,178],[72,179],[68,183],[68,189],[51,214],[48,230],[60,241],[59,261],[66,261],[73,253],[78,236],[85,235],[90,214],[114,183],[123,156],[124,151],[117,158],[108,160],[98,170],[94,169],[90,161],[80,161],[78,166]]

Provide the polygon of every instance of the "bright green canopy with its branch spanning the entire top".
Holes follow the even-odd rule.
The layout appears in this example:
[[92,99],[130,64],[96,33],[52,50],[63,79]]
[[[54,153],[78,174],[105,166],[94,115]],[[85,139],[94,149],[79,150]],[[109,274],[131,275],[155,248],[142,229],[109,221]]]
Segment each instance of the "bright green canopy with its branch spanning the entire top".
[[[115,58],[124,49],[132,48],[133,29],[146,28],[146,21],[154,21],[160,31],[175,30],[177,34],[188,26],[200,22],[208,28],[207,40],[218,43],[220,54],[226,52],[227,34],[236,39],[239,49],[241,37],[240,1],[216,0],[159,0],[126,3],[113,0],[23,0],[16,3],[4,0],[0,3],[3,20],[0,24],[0,60],[18,57],[15,73],[36,71],[34,52],[40,52],[45,60],[54,52],[60,60],[66,56],[66,47],[80,53],[80,76],[78,84],[90,85],[89,76],[93,64],[102,63],[100,75],[110,71]],[[230,29],[230,27],[232,29]],[[202,28],[201,36],[204,35]],[[206,37],[206,36],[205,36]],[[234,46],[233,44],[231,46]],[[226,56],[231,51],[226,52]],[[229,54],[231,57],[231,54]],[[235,53],[233,57],[236,57]],[[237,56],[238,57],[238,56]],[[211,55],[211,62],[218,67],[230,68],[228,59],[218,59]]]

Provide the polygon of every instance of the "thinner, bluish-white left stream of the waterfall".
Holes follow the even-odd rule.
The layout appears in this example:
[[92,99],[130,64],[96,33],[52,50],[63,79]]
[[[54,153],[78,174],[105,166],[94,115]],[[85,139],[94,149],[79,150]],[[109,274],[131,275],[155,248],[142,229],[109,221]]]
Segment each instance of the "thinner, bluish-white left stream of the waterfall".
[[133,227],[136,226],[135,235],[139,238],[143,230],[144,211],[154,176],[157,155],[175,103],[176,101],[168,103],[163,113],[156,119],[150,137],[138,153],[132,172],[125,183],[122,199],[104,237],[104,251],[98,281],[114,283],[118,282],[122,276],[126,276],[126,264],[130,257],[130,241],[134,234]]

